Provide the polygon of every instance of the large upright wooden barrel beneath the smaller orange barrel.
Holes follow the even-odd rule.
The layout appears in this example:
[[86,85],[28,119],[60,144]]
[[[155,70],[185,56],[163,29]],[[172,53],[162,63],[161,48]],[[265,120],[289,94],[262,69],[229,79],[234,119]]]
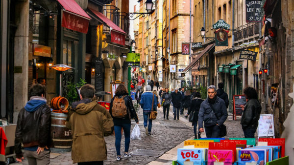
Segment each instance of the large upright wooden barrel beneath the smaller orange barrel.
[[67,114],[51,113],[51,136],[54,149],[57,151],[71,151],[73,144],[72,130],[65,126]]

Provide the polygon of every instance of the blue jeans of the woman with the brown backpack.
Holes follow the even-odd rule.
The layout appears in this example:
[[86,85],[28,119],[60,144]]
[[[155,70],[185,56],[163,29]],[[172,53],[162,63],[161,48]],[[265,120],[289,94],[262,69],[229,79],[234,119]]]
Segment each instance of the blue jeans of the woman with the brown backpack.
[[130,146],[131,124],[114,125],[115,149],[118,156],[121,155],[122,128],[124,132],[124,152],[128,152]]

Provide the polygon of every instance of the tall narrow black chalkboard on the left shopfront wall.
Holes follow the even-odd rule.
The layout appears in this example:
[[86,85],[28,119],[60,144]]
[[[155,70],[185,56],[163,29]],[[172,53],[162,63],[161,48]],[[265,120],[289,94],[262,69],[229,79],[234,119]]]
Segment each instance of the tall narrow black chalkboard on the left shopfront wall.
[[97,92],[104,91],[103,89],[103,76],[102,76],[102,58],[95,59],[95,90]]

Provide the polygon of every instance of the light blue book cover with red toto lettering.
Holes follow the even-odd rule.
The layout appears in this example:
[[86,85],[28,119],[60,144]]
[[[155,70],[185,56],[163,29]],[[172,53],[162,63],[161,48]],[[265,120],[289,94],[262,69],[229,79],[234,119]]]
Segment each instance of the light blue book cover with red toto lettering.
[[202,165],[204,158],[203,149],[177,149],[178,165]]

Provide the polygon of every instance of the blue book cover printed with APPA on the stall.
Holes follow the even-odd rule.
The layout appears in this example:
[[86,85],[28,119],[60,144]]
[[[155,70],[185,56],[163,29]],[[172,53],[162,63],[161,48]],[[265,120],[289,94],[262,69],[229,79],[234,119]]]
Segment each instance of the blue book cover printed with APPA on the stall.
[[266,165],[267,149],[241,149],[239,150],[238,165],[246,163],[256,163],[256,165]]

